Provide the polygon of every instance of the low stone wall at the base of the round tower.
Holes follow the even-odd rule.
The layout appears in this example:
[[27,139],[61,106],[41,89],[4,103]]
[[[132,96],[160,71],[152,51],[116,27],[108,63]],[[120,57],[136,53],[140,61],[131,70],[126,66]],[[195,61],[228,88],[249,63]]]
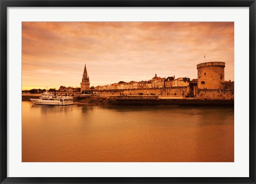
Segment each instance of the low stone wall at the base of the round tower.
[[221,100],[234,100],[234,91],[228,89],[218,90],[198,90],[197,99],[221,99]]

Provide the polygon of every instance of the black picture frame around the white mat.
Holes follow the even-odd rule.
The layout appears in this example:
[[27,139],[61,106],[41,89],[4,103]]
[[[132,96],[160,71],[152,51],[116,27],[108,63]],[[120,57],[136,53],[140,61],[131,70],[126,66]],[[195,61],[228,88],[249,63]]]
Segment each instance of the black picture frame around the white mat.
[[[7,7],[249,7],[250,11],[250,176],[248,178],[9,178],[7,177]],[[255,0],[0,0],[1,8],[1,183],[255,183]]]

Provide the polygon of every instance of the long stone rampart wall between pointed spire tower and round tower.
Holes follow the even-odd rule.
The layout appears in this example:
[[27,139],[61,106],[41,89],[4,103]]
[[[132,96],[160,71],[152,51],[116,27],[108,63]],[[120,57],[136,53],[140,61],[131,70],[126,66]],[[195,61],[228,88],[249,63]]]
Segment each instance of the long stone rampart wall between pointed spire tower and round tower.
[[138,95],[142,94],[157,94],[157,95],[178,95],[186,96],[188,94],[188,87],[163,87],[160,89],[127,89],[127,90],[97,90],[95,94],[116,94],[116,95]]

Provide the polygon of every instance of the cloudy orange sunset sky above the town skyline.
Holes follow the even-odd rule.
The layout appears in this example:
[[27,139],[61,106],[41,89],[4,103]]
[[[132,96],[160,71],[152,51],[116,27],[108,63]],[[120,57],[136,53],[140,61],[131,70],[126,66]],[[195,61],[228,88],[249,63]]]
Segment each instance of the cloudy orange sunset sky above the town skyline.
[[193,79],[210,61],[234,81],[234,22],[22,22],[22,90],[80,87],[85,63],[98,86]]

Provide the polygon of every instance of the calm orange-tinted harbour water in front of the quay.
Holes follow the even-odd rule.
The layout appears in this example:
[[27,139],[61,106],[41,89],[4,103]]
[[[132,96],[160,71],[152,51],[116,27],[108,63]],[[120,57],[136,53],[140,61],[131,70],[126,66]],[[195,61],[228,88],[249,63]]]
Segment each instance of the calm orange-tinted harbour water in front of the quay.
[[234,162],[234,108],[23,101],[22,162]]

